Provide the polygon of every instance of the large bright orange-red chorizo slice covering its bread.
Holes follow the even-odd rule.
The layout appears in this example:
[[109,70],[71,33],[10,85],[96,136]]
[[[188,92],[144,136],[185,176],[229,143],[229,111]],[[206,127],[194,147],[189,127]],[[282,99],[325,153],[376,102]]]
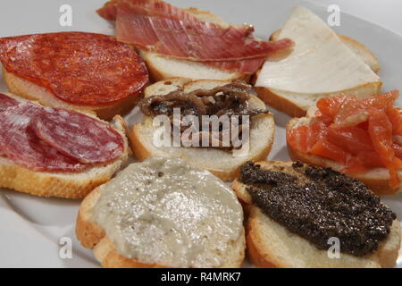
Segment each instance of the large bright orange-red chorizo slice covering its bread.
[[132,47],[100,34],[0,38],[0,61],[6,71],[73,105],[111,105],[138,95],[148,81],[146,65]]

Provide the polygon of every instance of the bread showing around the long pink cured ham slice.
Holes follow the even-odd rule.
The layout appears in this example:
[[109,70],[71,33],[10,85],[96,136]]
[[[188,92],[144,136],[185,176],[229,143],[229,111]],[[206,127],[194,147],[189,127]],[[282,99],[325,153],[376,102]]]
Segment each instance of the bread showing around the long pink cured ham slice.
[[[208,11],[201,11],[197,8],[184,9],[187,13],[196,16],[200,21],[211,22],[222,27],[228,27],[229,24],[220,17]],[[147,63],[150,78],[153,81],[166,80],[170,78],[189,78],[192,80],[244,80],[248,81],[250,74],[237,71],[224,71],[205,63],[197,63],[174,59],[172,57],[158,55],[155,53],[139,50]]]

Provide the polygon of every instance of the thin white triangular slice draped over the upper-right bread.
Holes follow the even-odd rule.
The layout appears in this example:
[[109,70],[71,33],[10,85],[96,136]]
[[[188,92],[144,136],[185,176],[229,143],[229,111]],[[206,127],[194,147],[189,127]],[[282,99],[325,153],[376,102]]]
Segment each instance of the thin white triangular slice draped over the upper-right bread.
[[294,50],[282,61],[266,61],[256,87],[314,94],[380,80],[324,21],[306,8],[295,8],[279,38],[291,38]]

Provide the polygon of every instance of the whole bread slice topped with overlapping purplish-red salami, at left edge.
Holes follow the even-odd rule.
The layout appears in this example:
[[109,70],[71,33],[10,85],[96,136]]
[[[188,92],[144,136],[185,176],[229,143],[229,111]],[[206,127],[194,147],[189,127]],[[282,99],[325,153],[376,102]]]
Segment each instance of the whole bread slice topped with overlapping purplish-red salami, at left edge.
[[0,188],[84,198],[128,159],[126,125],[0,94]]

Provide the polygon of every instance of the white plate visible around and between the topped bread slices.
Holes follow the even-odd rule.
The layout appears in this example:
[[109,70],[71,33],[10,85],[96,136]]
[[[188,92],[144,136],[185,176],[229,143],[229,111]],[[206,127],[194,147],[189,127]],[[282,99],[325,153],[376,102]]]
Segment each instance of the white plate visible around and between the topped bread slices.
[[[195,6],[218,14],[231,23],[255,25],[256,35],[268,38],[287,19],[291,8],[299,1],[267,0],[168,0],[178,6]],[[0,7],[0,37],[65,30],[82,30],[113,34],[113,26],[95,13],[102,0],[2,0]],[[72,27],[61,27],[59,8],[71,4]],[[326,7],[302,3],[326,19]],[[356,38],[368,46],[381,63],[383,89],[402,88],[402,38],[373,23],[348,14],[341,14],[337,32]],[[0,90],[6,90],[3,81]],[[400,100],[398,105],[400,105]],[[271,109],[272,110],[272,109]],[[289,117],[275,114],[276,136],[270,159],[289,160],[284,126]],[[130,124],[138,120],[135,111],[128,117]],[[402,219],[402,194],[384,197],[384,201]],[[0,195],[0,266],[3,267],[97,267],[92,251],[82,248],[74,235],[74,223],[80,201],[59,198],[35,198],[2,190]],[[71,238],[72,258],[59,256],[59,241]],[[402,257],[398,259],[402,267]]]

